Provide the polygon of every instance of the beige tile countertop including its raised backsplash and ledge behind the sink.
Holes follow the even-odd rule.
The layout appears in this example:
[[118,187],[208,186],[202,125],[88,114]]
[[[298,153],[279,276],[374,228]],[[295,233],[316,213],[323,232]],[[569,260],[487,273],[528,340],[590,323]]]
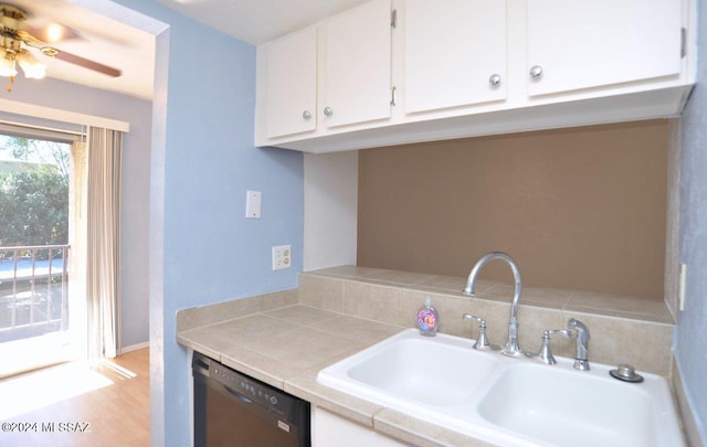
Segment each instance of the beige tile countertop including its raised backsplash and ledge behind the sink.
[[[502,337],[505,324],[500,321],[507,319],[508,292],[513,295],[513,290],[503,284],[479,281],[479,297],[469,300],[458,292],[463,283],[464,278],[347,266],[302,274],[298,289],[179,311],[177,340],[234,370],[399,440],[415,446],[488,445],[317,382],[319,370],[412,327],[414,319],[410,316],[414,316],[425,295],[434,297],[441,321],[446,323],[446,328],[441,327],[442,332],[475,338],[475,329],[453,318],[472,306],[488,319],[498,320],[494,326],[499,333],[492,331],[492,336]],[[652,372],[669,375],[673,321],[665,305],[613,298],[524,288],[521,309],[527,326],[538,326],[528,330],[534,336],[541,327],[547,329],[547,324],[579,316],[598,329],[592,332],[597,361],[615,363],[629,355],[629,363],[640,370],[653,369]],[[616,347],[614,340],[626,333],[653,340],[655,352],[644,355],[645,350],[636,353]],[[656,343],[662,339],[665,342]],[[524,340],[524,345],[530,342]],[[556,352],[560,354],[566,350],[558,348]]]

